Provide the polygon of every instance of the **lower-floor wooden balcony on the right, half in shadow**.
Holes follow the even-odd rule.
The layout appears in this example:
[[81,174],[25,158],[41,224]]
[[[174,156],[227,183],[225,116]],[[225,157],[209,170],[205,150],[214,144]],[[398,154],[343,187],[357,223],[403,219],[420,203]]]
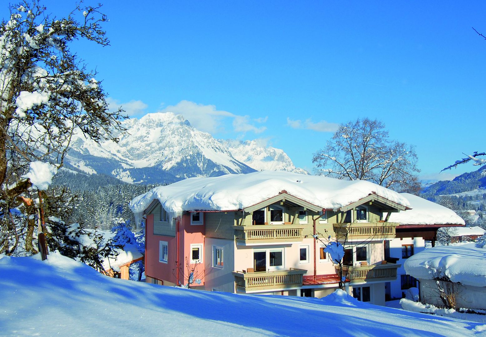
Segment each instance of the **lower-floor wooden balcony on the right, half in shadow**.
[[[401,265],[387,263],[384,265],[369,266],[343,266],[343,274],[350,284],[363,281],[395,281],[397,279],[397,269]],[[335,266],[336,273],[339,274],[339,267]]]

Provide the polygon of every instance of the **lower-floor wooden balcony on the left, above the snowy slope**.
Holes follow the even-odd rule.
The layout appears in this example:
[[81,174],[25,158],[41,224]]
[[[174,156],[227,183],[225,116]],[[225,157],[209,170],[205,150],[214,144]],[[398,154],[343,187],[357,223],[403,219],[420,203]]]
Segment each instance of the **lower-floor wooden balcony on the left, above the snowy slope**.
[[307,270],[291,268],[289,270],[243,272],[233,271],[236,287],[240,290],[291,289],[302,286],[302,276]]

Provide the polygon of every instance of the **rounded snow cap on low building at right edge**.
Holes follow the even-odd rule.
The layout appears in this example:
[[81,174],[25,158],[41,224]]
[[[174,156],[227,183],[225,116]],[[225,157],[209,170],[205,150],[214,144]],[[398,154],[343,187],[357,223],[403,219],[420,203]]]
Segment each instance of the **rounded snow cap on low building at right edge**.
[[447,276],[452,282],[486,286],[486,250],[464,246],[439,246],[412,255],[405,271],[417,279]]

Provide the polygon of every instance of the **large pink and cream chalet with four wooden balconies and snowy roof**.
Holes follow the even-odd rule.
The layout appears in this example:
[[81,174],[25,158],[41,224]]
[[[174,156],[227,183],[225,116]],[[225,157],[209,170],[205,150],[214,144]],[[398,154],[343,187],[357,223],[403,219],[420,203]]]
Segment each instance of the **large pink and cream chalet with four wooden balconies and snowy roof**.
[[260,171],[156,187],[131,208],[146,219],[146,282],[320,298],[338,287],[324,251],[337,238],[349,293],[384,305],[400,267],[384,260],[390,215],[410,203],[366,181]]

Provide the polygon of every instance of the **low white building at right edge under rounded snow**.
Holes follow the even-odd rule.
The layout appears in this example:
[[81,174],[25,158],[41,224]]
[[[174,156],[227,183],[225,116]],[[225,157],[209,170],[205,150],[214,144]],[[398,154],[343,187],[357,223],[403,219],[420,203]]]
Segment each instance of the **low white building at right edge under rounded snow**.
[[423,303],[445,305],[440,298],[442,293],[455,302],[456,308],[486,310],[485,249],[434,247],[410,257],[405,262],[405,270],[418,279]]

